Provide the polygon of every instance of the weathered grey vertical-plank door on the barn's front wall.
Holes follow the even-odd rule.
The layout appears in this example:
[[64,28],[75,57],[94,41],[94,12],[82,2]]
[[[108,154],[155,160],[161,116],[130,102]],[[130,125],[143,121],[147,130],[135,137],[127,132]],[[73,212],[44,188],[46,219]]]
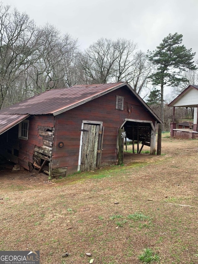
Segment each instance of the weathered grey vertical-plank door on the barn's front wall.
[[96,169],[99,125],[84,124],[80,171]]

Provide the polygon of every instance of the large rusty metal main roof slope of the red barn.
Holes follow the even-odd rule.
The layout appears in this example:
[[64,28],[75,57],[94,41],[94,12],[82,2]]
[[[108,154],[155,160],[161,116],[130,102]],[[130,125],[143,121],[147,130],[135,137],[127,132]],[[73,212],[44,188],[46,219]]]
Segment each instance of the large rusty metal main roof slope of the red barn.
[[0,110],[0,114],[60,114],[105,93],[122,87],[125,83],[76,85],[52,89]]

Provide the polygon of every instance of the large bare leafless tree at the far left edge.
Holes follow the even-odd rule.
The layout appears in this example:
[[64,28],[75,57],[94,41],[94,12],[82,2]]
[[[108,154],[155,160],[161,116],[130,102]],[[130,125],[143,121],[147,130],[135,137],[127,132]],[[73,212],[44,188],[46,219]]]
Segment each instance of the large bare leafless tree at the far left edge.
[[15,80],[32,63],[31,55],[37,49],[36,31],[27,14],[0,5],[0,108],[8,89],[14,88]]

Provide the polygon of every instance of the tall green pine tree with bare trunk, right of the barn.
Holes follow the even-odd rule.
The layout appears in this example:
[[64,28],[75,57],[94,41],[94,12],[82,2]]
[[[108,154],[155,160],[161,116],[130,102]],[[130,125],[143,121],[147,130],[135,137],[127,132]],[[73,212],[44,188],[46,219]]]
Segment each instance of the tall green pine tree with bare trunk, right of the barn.
[[161,120],[164,122],[164,86],[178,86],[186,81],[182,76],[183,71],[195,70],[192,49],[187,50],[182,43],[182,34],[177,32],[165,37],[157,49],[148,51],[147,58],[156,66],[156,72],[150,78],[153,85],[161,86]]

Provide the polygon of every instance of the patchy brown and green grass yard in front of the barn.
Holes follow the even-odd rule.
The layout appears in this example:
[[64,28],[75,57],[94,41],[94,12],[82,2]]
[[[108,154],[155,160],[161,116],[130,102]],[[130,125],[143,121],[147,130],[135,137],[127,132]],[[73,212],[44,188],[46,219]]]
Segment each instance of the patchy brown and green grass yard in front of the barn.
[[0,250],[40,250],[41,264],[198,263],[198,141],[162,134],[162,154],[54,184],[2,182]]

